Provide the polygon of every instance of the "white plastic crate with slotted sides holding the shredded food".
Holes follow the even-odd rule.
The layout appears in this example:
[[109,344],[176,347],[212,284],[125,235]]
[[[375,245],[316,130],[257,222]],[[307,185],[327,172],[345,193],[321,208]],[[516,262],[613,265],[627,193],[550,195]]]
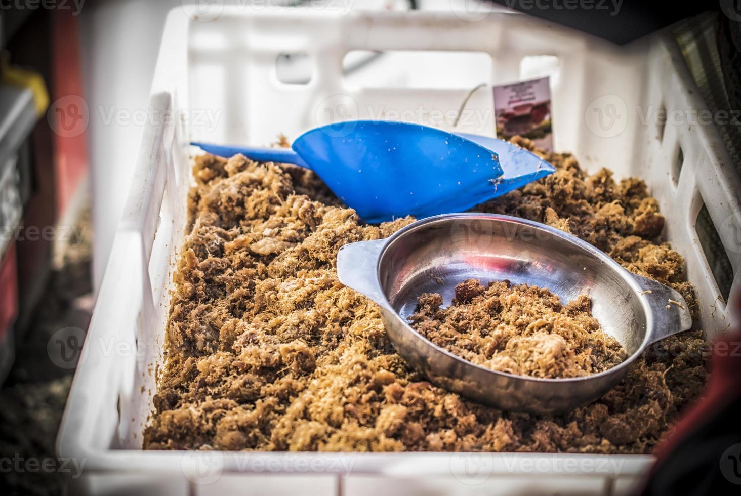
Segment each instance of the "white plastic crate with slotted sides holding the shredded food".
[[[475,84],[448,78],[459,87],[434,87],[439,81],[430,76],[426,89],[399,87],[409,78],[388,87],[363,87],[367,70],[365,76],[364,70],[342,74],[342,59],[350,50],[475,52],[473,59],[488,63],[488,80],[480,81],[488,84],[514,82],[522,68],[541,60],[528,57],[549,56],[555,148],[573,151],[591,171],[605,165],[618,177],[635,175],[648,182],[667,216],[666,239],[687,259],[702,305],[697,325],[709,337],[727,327],[730,317],[694,231],[702,199],[735,274],[741,259],[729,228],[741,225],[741,183],[717,130],[677,119],[644,124],[638,113],[704,108],[671,38],[653,36],[619,48],[508,13],[471,21],[454,13],[225,8],[209,22],[190,14],[178,8],[167,18],[136,176],[64,414],[59,452],[86,459],[83,477],[72,481],[73,494],[118,494],[128,474],[140,495],[182,494],[184,487],[197,495],[238,490],[621,494],[639,483],[651,456],[141,450],[156,370],[163,363],[171,271],[183,241],[191,184],[187,143],[268,144],[278,133],[296,137],[338,114],[379,117],[379,109],[387,114],[411,109],[404,116],[419,115],[426,122],[431,110],[456,110]],[[308,53],[310,82],[279,82],[281,53]],[[443,79],[446,67],[420,70],[436,71]],[[491,91],[474,93],[466,109],[482,119],[464,122],[459,130],[494,133]],[[614,119],[605,121],[608,116]],[[679,148],[684,160],[677,176]],[[732,291],[738,286],[739,277]]]

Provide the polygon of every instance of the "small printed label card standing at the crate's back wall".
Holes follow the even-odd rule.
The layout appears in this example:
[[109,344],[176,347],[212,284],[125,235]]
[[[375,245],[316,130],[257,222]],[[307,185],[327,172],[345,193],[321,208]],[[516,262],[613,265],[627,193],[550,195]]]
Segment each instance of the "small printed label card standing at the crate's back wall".
[[494,86],[494,113],[499,138],[519,134],[532,139],[538,148],[553,151],[548,77]]

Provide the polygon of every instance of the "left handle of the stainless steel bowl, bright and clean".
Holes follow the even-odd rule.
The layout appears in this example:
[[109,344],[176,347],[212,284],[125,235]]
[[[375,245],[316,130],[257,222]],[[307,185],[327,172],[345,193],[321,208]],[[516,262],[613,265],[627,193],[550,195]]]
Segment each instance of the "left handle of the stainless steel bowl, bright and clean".
[[339,282],[392,310],[378,277],[378,261],[387,239],[350,243],[337,252]]

